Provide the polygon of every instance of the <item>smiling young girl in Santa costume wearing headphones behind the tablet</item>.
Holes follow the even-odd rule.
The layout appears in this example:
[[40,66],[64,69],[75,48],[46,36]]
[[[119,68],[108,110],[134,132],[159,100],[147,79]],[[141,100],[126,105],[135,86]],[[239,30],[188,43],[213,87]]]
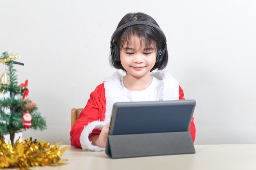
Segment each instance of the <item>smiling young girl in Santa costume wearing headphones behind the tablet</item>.
[[[105,150],[115,102],[184,99],[177,80],[163,70],[168,62],[166,38],[152,17],[144,13],[126,14],[110,44],[110,64],[122,71],[106,78],[91,93],[70,131],[71,145],[76,148]],[[193,119],[189,130],[194,141]]]

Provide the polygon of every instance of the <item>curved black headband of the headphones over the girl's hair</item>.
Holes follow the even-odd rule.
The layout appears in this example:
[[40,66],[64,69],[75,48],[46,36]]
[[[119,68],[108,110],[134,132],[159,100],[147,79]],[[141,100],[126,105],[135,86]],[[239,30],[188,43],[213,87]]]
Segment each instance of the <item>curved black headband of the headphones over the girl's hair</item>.
[[126,27],[132,26],[132,25],[139,25],[139,24],[140,24],[140,25],[152,26],[153,28],[157,29],[157,31],[159,31],[159,32],[163,35],[164,41],[166,42],[166,38],[165,38],[165,35],[164,35],[164,31],[162,31],[162,29],[161,29],[159,26],[157,26],[157,25],[155,25],[155,24],[153,24],[153,23],[151,23],[151,22],[147,22],[147,21],[132,21],[132,22],[128,22],[128,23],[126,23],[126,24],[124,24],[124,25],[119,26],[119,27],[116,29],[116,31],[112,34],[111,39],[110,39],[110,43],[112,43],[114,36],[115,36],[117,33],[119,33],[120,31],[122,31],[123,29],[125,29]]

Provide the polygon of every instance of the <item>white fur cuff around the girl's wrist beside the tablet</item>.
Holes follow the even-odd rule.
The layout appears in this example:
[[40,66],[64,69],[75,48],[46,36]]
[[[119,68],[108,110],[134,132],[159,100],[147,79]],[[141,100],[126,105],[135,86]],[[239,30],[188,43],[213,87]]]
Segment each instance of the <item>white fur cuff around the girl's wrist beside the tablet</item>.
[[79,139],[82,149],[84,151],[90,150],[90,151],[98,152],[98,151],[105,150],[105,148],[92,145],[92,141],[89,140],[89,135],[92,133],[92,130],[94,129],[101,130],[105,125],[106,125],[105,121],[92,121],[87,126],[85,126]]

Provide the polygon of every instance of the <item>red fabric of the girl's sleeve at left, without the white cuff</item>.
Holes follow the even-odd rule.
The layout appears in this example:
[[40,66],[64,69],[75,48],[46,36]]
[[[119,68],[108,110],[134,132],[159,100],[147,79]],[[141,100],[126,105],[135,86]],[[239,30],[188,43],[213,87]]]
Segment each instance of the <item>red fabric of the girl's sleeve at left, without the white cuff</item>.
[[[106,112],[106,98],[104,84],[100,84],[91,93],[85,108],[79,115],[70,131],[71,145],[76,148],[81,148],[80,135],[84,127],[92,121],[104,120],[104,113]],[[100,130],[93,130],[94,134],[99,134]]]

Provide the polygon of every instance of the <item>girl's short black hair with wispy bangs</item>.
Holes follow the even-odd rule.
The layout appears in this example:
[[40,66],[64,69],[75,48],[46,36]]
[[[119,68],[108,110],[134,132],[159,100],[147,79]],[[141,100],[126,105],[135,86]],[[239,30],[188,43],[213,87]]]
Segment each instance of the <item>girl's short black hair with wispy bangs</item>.
[[[119,22],[117,28],[132,21],[147,21],[159,26],[151,16],[145,13],[138,12],[126,14]],[[121,51],[121,49],[123,49],[124,46],[127,46],[129,44],[130,39],[134,38],[135,35],[138,36],[141,42],[140,44],[145,45],[145,48],[152,47],[152,45],[155,46],[156,52],[159,48],[163,49],[166,46],[166,38],[164,37],[164,35],[157,31],[157,29],[155,29],[154,27],[144,24],[137,24],[126,27],[125,29],[114,35],[112,41],[113,43],[117,44],[119,51]],[[150,71],[153,71],[155,69],[162,70],[166,67],[167,63],[168,51],[166,49],[163,60],[161,62],[156,63]],[[112,55],[110,55],[110,65],[114,68],[126,71],[121,65],[121,62],[115,61]]]

